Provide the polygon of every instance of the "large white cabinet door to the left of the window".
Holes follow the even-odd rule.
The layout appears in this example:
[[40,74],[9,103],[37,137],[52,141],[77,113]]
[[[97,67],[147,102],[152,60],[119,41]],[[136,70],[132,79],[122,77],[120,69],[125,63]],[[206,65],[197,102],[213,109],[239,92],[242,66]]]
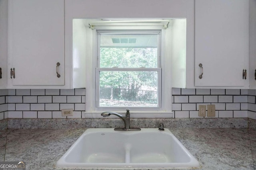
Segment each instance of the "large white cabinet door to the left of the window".
[[8,1],[8,47],[12,85],[64,85],[64,0]]

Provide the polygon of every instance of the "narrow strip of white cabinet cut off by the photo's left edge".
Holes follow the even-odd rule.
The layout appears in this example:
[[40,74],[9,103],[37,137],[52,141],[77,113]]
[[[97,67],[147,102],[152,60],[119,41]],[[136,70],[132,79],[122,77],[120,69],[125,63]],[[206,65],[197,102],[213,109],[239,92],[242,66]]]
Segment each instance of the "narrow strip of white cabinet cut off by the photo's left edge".
[[0,0],[0,89],[7,85],[7,0]]

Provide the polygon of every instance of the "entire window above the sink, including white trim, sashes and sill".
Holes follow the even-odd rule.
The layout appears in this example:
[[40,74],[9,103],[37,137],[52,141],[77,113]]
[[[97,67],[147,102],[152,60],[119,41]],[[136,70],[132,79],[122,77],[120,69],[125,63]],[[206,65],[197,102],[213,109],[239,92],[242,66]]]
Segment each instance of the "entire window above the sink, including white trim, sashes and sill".
[[131,117],[172,117],[170,29],[115,22],[87,21],[85,117],[127,108]]

